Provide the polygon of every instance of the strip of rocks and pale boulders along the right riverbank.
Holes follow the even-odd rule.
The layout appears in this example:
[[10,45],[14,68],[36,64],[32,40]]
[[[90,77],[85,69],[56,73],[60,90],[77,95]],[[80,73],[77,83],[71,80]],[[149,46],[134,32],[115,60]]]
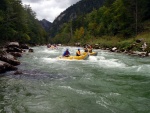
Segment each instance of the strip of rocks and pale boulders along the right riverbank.
[[131,56],[139,56],[139,57],[150,56],[150,44],[142,38],[137,39],[134,42],[127,44],[126,46],[119,46],[119,45],[114,47],[112,45],[104,46],[101,43],[82,45],[80,42],[74,44],[74,46],[77,47],[86,47],[87,45],[92,46],[93,49],[102,49],[110,52],[123,53]]

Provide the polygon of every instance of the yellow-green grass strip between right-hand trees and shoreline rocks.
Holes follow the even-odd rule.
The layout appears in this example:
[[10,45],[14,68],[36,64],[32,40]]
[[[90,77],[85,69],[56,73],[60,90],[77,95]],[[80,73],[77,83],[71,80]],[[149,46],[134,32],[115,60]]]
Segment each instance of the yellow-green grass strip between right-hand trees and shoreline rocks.
[[[144,42],[150,47],[150,31],[147,30],[145,32],[142,32],[138,34],[137,36],[125,38],[122,35],[118,36],[102,36],[102,37],[92,37],[90,38],[84,38],[80,39],[76,42],[81,43],[81,45],[84,44],[90,44],[95,45],[98,44],[101,48],[113,48],[117,47],[118,49],[128,49],[132,47],[132,45],[136,45],[134,47],[134,50],[140,50],[141,46]],[[136,43],[136,40],[141,40],[141,43]],[[74,41],[72,43],[69,43],[69,45],[74,45]]]

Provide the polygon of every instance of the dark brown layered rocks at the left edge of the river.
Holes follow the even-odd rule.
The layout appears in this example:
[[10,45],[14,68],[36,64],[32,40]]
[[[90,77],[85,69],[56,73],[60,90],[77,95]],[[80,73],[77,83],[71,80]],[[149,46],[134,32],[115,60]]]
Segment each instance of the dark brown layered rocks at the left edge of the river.
[[7,71],[17,71],[17,65],[20,65],[18,57],[26,52],[33,52],[33,49],[29,48],[27,44],[19,44],[18,42],[9,42],[6,45],[0,47],[0,73]]

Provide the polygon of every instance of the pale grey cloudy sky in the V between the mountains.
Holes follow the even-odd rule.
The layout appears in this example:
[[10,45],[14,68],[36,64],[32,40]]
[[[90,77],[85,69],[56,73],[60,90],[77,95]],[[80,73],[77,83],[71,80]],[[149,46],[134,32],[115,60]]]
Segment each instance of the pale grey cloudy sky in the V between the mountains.
[[53,22],[61,12],[78,1],[80,0],[22,0],[22,3],[30,5],[39,20]]

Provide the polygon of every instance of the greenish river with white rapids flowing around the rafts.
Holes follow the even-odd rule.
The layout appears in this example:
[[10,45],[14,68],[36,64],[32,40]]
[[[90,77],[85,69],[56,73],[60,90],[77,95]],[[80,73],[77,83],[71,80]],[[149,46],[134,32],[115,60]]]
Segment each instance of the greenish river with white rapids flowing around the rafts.
[[78,49],[33,47],[19,58],[23,74],[0,74],[0,113],[150,113],[150,58],[59,60],[66,48]]

